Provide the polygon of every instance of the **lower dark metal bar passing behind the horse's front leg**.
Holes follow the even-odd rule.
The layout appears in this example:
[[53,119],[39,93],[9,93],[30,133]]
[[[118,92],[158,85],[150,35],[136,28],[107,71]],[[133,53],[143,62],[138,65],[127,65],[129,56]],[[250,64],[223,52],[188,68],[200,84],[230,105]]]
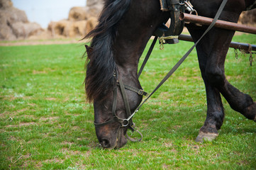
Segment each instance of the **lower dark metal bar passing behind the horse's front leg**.
[[[190,35],[185,35],[185,34],[179,35],[179,40],[194,42]],[[241,42],[230,42],[229,47],[240,49],[240,50],[241,49],[248,50],[249,44],[241,43]],[[256,45],[251,45],[251,47],[252,47],[252,51],[256,51]]]

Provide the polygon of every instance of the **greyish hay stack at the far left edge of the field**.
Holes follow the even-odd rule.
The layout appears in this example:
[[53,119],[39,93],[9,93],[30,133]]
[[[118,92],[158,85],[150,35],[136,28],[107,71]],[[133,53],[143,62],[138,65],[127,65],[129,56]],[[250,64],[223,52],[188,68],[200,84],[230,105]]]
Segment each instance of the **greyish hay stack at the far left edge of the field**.
[[43,31],[38,23],[28,22],[24,11],[13,7],[11,0],[0,0],[0,40],[25,39]]

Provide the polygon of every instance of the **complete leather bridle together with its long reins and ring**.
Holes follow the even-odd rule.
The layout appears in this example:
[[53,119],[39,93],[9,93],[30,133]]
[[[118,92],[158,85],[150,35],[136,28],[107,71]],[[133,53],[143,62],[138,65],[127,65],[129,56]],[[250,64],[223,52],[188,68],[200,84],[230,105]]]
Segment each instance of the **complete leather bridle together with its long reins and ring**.
[[[211,23],[210,26],[208,26],[208,28],[206,29],[206,31],[204,32],[203,35],[201,35],[201,38],[199,38],[199,40],[197,40],[194,45],[189,49],[189,51],[179,60],[179,62],[177,62],[177,64],[174,65],[174,67],[172,67],[172,69],[168,72],[168,74],[165,76],[164,79],[162,79],[162,81],[160,81],[160,84],[157,85],[157,87],[155,87],[155,89],[151,92],[151,94],[148,95],[148,93],[146,93],[145,91],[143,91],[143,89],[137,89],[133,86],[129,86],[126,84],[123,84],[123,81],[121,79],[121,77],[118,77],[117,71],[114,71],[113,77],[115,77],[116,79],[116,84],[113,88],[113,105],[112,105],[112,115],[113,118],[111,120],[108,120],[104,123],[95,123],[94,125],[95,127],[101,127],[104,125],[108,125],[110,123],[120,123],[120,127],[128,127],[130,130],[132,130],[132,132],[136,131],[138,132],[138,130],[134,129],[134,123],[133,123],[133,115],[135,115],[135,113],[137,113],[139,111],[139,109],[141,108],[141,106],[143,106],[143,104],[148,101],[148,98],[150,98],[150,96],[152,96],[152,94],[155,93],[155,91],[157,91],[157,89],[160,88],[160,86],[162,86],[162,84],[165,83],[165,81],[167,81],[167,79],[169,79],[169,77],[179,68],[179,66],[182,64],[182,62],[184,62],[184,60],[189,56],[189,54],[191,53],[191,51],[194,49],[194,47],[196,47],[196,45],[199,43],[199,41],[204,37],[204,35],[206,35],[206,33],[208,33],[209,30],[211,30],[211,28],[213,28],[214,24],[216,23],[216,21],[218,20],[218,17],[221,15],[221,12],[223,11],[224,6],[226,5],[226,2],[228,0],[223,0],[221,3],[221,6],[218,8],[218,11],[216,13],[216,16],[213,18],[213,22]],[[138,77],[140,76],[141,72],[143,71],[143,67],[145,67],[146,62],[148,61],[148,58],[150,57],[150,54],[152,52],[152,48],[155,45],[155,42],[157,41],[157,36],[155,36],[155,39],[152,42],[152,45],[150,46],[150,50],[148,51],[148,54],[145,57],[145,60],[143,61],[142,66],[140,67],[140,71],[138,73]],[[118,118],[118,116],[116,115],[116,103],[117,103],[117,88],[118,86],[121,89],[121,94],[123,96],[123,101],[125,104],[125,108],[126,108],[126,118]],[[138,108],[135,109],[135,111],[133,113],[130,112],[130,106],[128,103],[128,98],[126,95],[126,89],[133,91],[135,93],[137,93],[138,95],[143,95],[143,96],[147,96],[147,98],[145,98],[145,100],[143,101],[143,103],[140,103],[140,105],[138,106]],[[143,135],[138,132],[141,136],[141,138],[139,140],[134,140],[133,138],[128,137],[127,133],[126,133],[126,137],[128,138],[128,140],[131,140],[133,142],[139,142],[140,140],[142,140]]]

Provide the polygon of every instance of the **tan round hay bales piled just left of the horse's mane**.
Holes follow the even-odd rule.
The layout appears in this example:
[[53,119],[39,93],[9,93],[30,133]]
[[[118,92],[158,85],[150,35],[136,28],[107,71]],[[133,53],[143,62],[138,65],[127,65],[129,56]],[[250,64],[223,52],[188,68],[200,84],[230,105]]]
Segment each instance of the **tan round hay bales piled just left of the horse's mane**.
[[51,22],[48,30],[53,38],[82,38],[96,26],[102,7],[102,0],[87,0],[87,6],[71,8],[67,20]]

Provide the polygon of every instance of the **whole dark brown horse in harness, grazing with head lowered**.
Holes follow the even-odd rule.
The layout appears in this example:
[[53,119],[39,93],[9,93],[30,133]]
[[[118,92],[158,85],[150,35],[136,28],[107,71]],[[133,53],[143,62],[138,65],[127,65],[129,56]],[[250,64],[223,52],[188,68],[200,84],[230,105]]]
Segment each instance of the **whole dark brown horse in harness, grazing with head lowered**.
[[[214,18],[222,0],[190,0],[200,16]],[[228,0],[220,20],[238,22],[242,11],[255,0]],[[104,0],[98,25],[85,36],[87,48],[87,99],[94,105],[96,136],[102,147],[113,149],[126,145],[126,132],[133,130],[131,113],[143,99],[138,80],[138,62],[148,40],[170,18],[160,10],[159,0]],[[194,42],[206,26],[187,26]],[[225,76],[224,62],[235,31],[211,28],[196,45],[201,77],[206,87],[207,113],[196,141],[214,140],[224,119],[221,94],[233,110],[256,122],[256,103],[248,94],[232,86]],[[131,90],[128,89],[128,87]]]

